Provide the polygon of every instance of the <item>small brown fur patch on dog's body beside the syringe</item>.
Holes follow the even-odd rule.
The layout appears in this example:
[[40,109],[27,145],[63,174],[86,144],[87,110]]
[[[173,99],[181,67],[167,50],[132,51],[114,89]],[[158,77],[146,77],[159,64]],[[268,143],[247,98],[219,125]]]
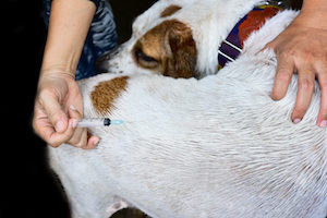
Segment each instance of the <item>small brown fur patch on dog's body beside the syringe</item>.
[[110,81],[100,82],[92,92],[90,100],[100,114],[110,113],[114,99],[125,90],[129,76],[116,77]]

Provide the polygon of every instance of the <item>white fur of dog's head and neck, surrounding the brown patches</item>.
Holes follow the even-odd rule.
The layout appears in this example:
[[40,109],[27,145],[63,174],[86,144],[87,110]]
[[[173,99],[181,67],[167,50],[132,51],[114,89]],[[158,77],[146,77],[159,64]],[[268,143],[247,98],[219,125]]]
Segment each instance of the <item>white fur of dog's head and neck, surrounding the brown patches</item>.
[[[152,71],[140,68],[133,61],[132,48],[140,37],[153,27],[167,20],[179,20],[191,27],[197,48],[197,71],[201,76],[216,74],[218,66],[218,49],[221,41],[228,36],[235,23],[242,19],[254,4],[262,0],[161,0],[145,11],[133,23],[133,35],[129,41],[120,47],[117,56],[110,60],[111,73],[133,72],[150,73]],[[182,7],[171,16],[160,17],[161,11],[175,4]]]

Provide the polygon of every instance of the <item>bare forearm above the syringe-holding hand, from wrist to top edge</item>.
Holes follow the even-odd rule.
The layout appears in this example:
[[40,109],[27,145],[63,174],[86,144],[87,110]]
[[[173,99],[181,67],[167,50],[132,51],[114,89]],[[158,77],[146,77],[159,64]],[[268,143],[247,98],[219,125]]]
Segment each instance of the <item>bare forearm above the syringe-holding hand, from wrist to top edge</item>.
[[72,76],[96,7],[88,0],[53,0],[41,73],[66,72]]

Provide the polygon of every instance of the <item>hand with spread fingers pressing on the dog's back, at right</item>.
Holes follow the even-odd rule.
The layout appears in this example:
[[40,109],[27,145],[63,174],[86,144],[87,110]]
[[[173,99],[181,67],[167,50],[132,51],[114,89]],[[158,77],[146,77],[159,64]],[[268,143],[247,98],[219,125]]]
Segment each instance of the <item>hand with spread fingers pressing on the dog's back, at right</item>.
[[299,89],[292,120],[299,123],[305,114],[317,77],[322,101],[317,119],[327,126],[327,2],[304,0],[299,16],[266,47],[276,52],[278,65],[271,98],[286,96],[293,72],[299,74]]

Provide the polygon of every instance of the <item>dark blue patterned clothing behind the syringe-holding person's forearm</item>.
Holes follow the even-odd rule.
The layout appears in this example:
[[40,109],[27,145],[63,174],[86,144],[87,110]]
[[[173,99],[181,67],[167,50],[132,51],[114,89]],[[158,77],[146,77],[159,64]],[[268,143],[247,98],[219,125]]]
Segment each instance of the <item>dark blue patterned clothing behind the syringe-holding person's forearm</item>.
[[[96,7],[96,13],[88,29],[76,70],[76,80],[96,75],[95,60],[104,52],[117,46],[117,32],[110,4],[106,0],[90,0]],[[48,26],[51,0],[45,0],[45,22]]]

